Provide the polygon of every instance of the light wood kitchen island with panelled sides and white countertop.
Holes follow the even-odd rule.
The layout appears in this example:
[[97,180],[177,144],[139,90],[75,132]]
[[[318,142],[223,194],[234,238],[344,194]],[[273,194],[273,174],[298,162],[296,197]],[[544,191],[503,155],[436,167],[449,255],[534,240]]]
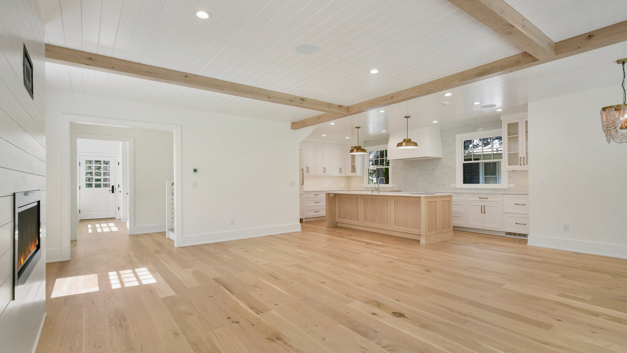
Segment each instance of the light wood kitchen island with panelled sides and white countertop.
[[453,238],[452,202],[451,193],[327,192],[326,222],[431,244]]

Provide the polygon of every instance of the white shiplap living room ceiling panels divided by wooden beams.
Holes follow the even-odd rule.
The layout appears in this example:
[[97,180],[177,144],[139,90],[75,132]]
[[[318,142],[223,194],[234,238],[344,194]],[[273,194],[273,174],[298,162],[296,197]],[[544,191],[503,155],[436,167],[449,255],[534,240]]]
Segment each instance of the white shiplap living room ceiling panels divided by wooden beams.
[[[547,35],[559,38],[627,19],[626,11],[618,11],[627,10],[624,0],[556,1],[568,3],[566,13],[542,11],[554,5],[543,7],[546,2],[541,0],[508,2],[525,16],[525,12],[535,16]],[[446,0],[40,0],[40,4],[52,45],[344,105],[521,52]],[[212,17],[196,18],[198,9]],[[314,43],[320,51],[299,54],[294,48],[301,43]],[[368,73],[371,68],[379,73]],[[49,63],[46,71],[50,89],[78,94],[277,121],[320,114],[64,65]]]

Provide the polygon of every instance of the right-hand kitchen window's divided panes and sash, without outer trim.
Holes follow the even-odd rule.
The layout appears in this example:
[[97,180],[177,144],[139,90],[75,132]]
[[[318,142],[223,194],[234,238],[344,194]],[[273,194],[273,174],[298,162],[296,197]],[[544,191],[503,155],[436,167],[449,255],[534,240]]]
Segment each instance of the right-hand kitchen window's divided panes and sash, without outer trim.
[[500,184],[503,136],[463,140],[463,184]]

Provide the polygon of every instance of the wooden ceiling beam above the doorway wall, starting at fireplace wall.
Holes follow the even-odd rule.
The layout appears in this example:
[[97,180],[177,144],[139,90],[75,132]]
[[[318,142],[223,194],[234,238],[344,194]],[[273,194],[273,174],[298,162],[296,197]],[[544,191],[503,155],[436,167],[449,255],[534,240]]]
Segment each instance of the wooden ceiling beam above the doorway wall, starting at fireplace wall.
[[138,79],[164,82],[166,84],[208,90],[211,92],[236,95],[238,97],[256,100],[264,100],[265,102],[312,109],[314,111],[348,114],[348,107],[340,106],[339,104],[298,97],[297,95],[236,84],[234,82],[224,80],[212,79],[211,77],[192,75],[191,73],[144,65],[142,63],[104,57],[102,55],[62,48],[60,46],[46,44],[46,62],[117,73],[118,75],[137,77]]

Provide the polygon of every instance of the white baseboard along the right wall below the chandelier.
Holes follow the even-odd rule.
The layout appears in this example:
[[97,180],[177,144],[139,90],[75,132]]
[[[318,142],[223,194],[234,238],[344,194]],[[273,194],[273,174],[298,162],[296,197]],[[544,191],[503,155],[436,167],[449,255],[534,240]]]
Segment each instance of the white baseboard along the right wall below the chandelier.
[[549,249],[574,251],[575,253],[609,256],[611,258],[627,259],[627,246],[619,244],[604,244],[598,242],[572,240],[554,237],[533,236],[529,234],[527,245],[548,247]]

